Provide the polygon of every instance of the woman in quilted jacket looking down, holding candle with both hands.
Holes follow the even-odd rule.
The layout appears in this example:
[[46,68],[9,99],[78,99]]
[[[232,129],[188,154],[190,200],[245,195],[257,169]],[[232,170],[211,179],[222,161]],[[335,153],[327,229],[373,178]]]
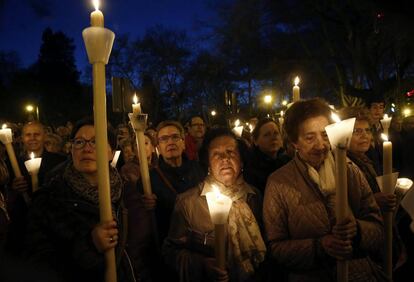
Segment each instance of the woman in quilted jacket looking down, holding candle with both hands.
[[348,260],[349,281],[376,281],[379,266],[370,256],[382,248],[380,211],[361,171],[348,163],[348,216],[336,222],[330,123],[331,109],[320,99],[296,102],[286,113],[296,156],[268,178],[263,218],[270,256],[288,281],[335,281],[337,259]]

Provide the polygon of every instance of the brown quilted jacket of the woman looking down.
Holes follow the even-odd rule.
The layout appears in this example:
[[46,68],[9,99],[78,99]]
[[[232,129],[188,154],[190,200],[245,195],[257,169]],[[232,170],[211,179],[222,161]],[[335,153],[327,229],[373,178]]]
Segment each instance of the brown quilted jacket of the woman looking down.
[[[379,257],[383,244],[380,211],[367,181],[351,162],[347,174],[348,203],[358,225],[348,261],[349,281],[377,281],[375,274],[381,270],[371,258]],[[335,214],[298,157],[269,176],[263,220],[270,256],[288,281],[336,281],[335,259],[320,243],[331,233]]]

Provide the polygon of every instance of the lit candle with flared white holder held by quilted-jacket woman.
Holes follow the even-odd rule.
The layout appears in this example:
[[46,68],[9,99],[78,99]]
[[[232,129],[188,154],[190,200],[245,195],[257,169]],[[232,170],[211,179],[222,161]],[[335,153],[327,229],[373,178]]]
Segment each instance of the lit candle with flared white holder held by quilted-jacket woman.
[[[348,211],[348,181],[346,149],[351,141],[355,118],[341,121],[336,114],[332,114],[336,121],[325,127],[329,142],[335,152],[335,217],[337,223],[343,223]],[[337,280],[348,281],[348,262],[337,261]]]

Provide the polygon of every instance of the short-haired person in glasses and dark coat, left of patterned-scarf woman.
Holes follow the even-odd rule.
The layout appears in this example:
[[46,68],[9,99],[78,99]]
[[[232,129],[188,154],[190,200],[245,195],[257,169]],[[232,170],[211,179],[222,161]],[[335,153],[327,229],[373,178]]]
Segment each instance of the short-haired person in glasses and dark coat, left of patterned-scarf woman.
[[[154,250],[160,250],[161,243],[168,234],[171,214],[174,209],[175,199],[188,189],[195,187],[204,179],[204,173],[196,161],[188,160],[184,154],[184,129],[177,121],[163,121],[157,126],[158,150],[160,157],[158,166],[150,171],[151,195],[143,195],[142,201],[147,211],[154,211],[157,230],[153,226],[147,228],[152,232],[152,241],[145,242],[146,256],[159,261],[160,254]],[[138,190],[143,193],[142,183],[138,181]],[[150,215],[150,213],[148,213]],[[155,243],[155,247],[153,247]],[[149,260],[147,260],[149,263]],[[154,279],[165,273],[159,273],[157,268],[153,269]],[[173,278],[171,278],[173,279]]]

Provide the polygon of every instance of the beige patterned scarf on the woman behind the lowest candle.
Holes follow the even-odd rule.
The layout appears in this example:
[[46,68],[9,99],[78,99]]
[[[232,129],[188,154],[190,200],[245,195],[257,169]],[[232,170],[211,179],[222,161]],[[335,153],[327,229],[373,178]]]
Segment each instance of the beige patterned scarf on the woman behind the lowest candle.
[[220,189],[220,193],[230,197],[233,204],[228,219],[228,259],[230,266],[237,269],[238,280],[249,278],[264,260],[266,246],[260,233],[259,225],[252,210],[246,202],[248,193],[255,193],[240,176],[232,186],[224,186],[207,176],[202,195],[212,191],[211,184]]

